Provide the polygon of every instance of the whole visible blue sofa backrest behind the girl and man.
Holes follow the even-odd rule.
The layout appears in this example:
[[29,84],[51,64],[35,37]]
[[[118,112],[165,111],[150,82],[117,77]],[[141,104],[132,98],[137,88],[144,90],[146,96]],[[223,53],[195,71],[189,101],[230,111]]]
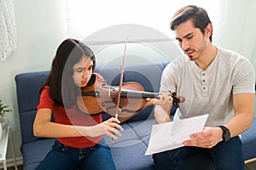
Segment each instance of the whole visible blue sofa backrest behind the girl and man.
[[[158,92],[160,77],[167,63],[127,66],[125,67],[123,82],[138,82],[143,85],[146,92]],[[96,67],[96,72],[101,74],[109,85],[119,85],[120,66]],[[39,89],[43,86],[48,74],[49,71],[38,71],[15,76],[22,144],[40,139],[33,135],[32,125],[40,97]],[[152,111],[153,106],[149,106],[126,122],[147,119],[148,116],[152,116]],[[106,120],[110,116],[103,114],[102,117],[103,120]]]

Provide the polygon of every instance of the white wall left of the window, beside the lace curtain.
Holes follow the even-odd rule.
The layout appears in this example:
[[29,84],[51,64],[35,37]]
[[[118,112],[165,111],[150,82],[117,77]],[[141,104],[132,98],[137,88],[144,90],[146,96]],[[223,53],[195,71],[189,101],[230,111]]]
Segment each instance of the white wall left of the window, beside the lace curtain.
[[[63,2],[14,0],[18,42],[15,53],[5,61],[0,61],[0,99],[14,111],[8,117],[16,156],[21,155],[15,75],[26,71],[49,70],[55,49],[67,35]],[[9,150],[7,157],[11,156]]]

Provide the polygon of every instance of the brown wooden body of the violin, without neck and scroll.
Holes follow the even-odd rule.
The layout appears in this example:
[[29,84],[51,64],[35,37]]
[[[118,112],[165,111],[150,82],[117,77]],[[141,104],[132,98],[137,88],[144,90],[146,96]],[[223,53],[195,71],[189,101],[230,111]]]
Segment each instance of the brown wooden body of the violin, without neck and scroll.
[[[143,90],[136,82],[123,83],[119,108],[122,112],[135,112],[145,105],[145,100],[132,90]],[[90,87],[81,88],[78,97],[79,109],[85,113],[97,114],[106,111],[114,115],[117,105],[119,87],[110,86],[106,81],[96,79]]]

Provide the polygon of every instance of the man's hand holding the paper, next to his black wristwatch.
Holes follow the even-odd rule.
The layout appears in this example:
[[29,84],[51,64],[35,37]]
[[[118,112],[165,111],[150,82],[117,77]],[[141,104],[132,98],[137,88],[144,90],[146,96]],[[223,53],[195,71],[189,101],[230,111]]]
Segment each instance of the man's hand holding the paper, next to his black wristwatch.
[[185,146],[212,148],[223,140],[222,133],[220,127],[204,127],[200,133],[191,134],[190,139],[183,141],[183,144]]

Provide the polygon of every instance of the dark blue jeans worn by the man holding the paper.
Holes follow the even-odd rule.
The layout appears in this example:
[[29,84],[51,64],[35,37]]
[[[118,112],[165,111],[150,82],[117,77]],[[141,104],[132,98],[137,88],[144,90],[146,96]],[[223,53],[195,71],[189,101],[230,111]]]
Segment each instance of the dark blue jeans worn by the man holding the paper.
[[211,149],[184,146],[153,155],[154,169],[243,170],[244,160],[239,137],[219,142]]

